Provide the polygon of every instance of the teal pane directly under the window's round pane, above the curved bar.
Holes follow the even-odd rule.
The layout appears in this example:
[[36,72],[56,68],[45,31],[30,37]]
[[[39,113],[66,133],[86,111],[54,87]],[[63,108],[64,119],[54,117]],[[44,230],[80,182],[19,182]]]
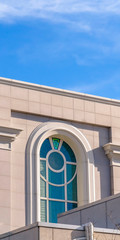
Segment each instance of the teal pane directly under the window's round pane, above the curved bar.
[[54,184],[64,184],[64,171],[55,173],[48,169],[48,181]]

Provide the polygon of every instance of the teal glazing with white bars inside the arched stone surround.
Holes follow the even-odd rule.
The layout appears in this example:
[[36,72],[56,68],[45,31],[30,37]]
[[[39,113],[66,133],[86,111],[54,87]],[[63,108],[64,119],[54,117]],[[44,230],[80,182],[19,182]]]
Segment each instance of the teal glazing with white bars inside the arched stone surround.
[[77,207],[76,158],[62,139],[47,138],[40,148],[40,220],[57,222],[57,214]]

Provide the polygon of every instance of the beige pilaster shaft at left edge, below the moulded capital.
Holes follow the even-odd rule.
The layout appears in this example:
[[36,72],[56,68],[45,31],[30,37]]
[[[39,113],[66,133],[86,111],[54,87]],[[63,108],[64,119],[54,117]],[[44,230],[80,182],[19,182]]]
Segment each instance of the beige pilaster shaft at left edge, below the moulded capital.
[[0,233],[11,229],[11,152],[0,149]]

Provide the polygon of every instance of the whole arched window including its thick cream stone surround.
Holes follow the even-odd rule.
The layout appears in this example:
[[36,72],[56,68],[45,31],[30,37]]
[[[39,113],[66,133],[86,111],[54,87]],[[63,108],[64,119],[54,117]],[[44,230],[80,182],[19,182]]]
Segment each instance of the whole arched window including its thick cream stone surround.
[[[57,159],[57,160],[56,160]],[[79,129],[62,121],[37,126],[26,147],[26,224],[95,201],[94,156]]]

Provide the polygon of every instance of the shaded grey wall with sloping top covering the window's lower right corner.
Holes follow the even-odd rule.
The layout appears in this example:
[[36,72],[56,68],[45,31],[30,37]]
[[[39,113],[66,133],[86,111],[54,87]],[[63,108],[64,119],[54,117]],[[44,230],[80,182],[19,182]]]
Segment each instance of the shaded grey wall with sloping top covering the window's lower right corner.
[[58,215],[58,222],[84,225],[92,222],[94,227],[120,230],[120,194],[72,209]]

